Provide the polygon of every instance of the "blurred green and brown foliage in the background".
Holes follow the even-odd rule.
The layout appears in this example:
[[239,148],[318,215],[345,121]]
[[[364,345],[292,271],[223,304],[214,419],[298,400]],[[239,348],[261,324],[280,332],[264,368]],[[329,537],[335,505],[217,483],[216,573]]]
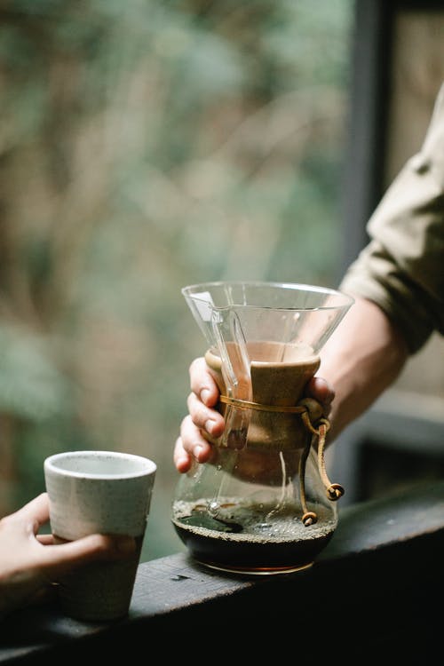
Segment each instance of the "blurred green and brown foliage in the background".
[[0,3],[1,511],[44,457],[158,464],[203,340],[180,288],[335,286],[352,0]]

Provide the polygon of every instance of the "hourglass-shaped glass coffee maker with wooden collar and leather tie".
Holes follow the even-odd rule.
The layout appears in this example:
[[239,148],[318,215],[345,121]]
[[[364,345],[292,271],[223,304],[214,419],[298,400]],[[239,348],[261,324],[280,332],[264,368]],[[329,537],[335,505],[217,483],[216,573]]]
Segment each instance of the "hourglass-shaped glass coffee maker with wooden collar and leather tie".
[[182,293],[207,342],[226,428],[211,440],[210,462],[178,480],[171,511],[178,536],[194,559],[222,571],[310,567],[337,527],[344,489],[325,469],[329,421],[304,388],[353,298],[266,281],[209,282]]

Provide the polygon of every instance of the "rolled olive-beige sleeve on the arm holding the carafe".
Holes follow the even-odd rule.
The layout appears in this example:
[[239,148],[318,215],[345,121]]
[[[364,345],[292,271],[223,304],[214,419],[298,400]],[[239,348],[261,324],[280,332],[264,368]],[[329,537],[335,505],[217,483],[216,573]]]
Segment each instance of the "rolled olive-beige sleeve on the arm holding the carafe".
[[444,334],[444,84],[424,144],[393,181],[367,226],[369,244],[340,289],[379,305],[410,353]]

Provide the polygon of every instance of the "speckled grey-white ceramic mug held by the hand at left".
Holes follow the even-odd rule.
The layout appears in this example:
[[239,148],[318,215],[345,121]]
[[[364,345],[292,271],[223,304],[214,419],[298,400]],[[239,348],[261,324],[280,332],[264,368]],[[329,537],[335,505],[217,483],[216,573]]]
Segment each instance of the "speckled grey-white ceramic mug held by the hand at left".
[[147,527],[155,463],[116,451],[67,451],[44,461],[52,534],[60,542],[91,534],[134,536],[129,559],[76,567],[58,582],[62,611],[103,622],[128,614]]

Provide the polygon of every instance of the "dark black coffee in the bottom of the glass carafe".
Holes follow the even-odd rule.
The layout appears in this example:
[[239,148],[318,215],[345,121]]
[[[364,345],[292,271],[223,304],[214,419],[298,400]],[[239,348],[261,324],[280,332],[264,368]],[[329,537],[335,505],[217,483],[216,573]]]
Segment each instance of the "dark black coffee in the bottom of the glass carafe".
[[263,503],[226,499],[213,516],[204,500],[178,501],[172,522],[194,559],[207,566],[248,574],[290,572],[310,567],[337,527],[324,507],[311,508],[319,520],[305,527],[294,506],[275,511]]

